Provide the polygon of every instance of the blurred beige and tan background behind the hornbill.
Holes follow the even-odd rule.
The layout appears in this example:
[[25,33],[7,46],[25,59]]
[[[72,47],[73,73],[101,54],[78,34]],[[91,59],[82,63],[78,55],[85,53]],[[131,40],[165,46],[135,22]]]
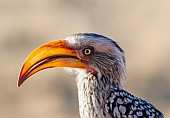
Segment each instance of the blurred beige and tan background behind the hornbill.
[[125,50],[125,89],[170,118],[169,0],[0,0],[0,117],[79,118],[74,76],[49,69],[16,86],[37,46],[79,32]]

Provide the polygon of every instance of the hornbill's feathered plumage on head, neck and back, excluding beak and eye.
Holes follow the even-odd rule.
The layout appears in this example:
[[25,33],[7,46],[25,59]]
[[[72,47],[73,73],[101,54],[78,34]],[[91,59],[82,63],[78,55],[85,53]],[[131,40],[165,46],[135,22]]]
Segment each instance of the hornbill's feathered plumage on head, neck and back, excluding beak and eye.
[[163,118],[150,103],[122,89],[126,76],[123,50],[111,39],[97,34],[75,34],[66,38],[75,50],[93,46],[96,53],[89,57],[88,67],[73,69],[77,75],[81,118]]

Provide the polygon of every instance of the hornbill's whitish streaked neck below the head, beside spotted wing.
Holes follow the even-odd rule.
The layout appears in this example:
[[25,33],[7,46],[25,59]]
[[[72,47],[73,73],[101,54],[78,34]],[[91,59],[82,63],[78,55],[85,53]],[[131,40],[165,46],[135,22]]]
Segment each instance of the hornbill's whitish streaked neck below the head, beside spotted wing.
[[[101,81],[102,79],[102,81]],[[86,74],[77,77],[79,111],[81,118],[106,117],[104,107],[111,85],[106,84],[103,76]],[[100,117],[98,116],[100,114]],[[102,114],[102,115],[101,115]],[[109,116],[108,116],[109,117]]]

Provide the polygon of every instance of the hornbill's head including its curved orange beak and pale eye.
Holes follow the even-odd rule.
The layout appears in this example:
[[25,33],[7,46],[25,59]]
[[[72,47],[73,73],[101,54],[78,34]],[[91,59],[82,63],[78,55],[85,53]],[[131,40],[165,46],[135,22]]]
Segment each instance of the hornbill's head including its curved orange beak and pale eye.
[[76,73],[104,75],[107,84],[122,86],[126,75],[123,50],[102,35],[80,33],[36,48],[25,60],[18,87],[36,72],[53,67],[72,68]]

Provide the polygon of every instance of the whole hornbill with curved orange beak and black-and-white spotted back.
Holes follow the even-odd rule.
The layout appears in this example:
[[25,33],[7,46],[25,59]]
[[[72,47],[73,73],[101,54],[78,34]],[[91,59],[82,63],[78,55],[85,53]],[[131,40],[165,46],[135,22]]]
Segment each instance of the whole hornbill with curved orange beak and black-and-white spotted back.
[[34,73],[53,67],[76,75],[81,118],[163,118],[153,105],[123,89],[124,51],[110,38],[79,33],[41,45],[25,60],[18,87]]

